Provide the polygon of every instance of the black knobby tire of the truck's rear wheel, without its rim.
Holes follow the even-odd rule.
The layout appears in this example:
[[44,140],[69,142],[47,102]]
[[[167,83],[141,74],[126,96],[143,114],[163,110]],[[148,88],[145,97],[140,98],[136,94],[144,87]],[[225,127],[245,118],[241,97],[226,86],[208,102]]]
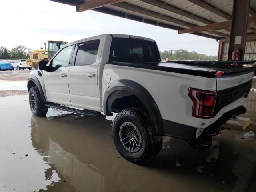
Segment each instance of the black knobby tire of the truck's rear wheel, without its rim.
[[[119,130],[124,122],[131,122],[141,133],[142,144],[137,152],[130,152],[120,141]],[[155,157],[162,148],[162,136],[152,132],[150,117],[140,108],[128,108],[120,111],[113,121],[112,136],[116,149],[126,160],[135,164],[144,164]]]

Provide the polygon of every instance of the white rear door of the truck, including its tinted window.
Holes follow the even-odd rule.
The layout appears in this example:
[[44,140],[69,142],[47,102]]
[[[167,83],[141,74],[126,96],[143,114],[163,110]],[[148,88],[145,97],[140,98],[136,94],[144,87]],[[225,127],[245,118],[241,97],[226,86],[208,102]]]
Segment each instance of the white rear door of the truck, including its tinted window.
[[98,37],[76,46],[73,66],[68,73],[70,100],[74,107],[99,111],[98,67],[102,44],[103,37]]

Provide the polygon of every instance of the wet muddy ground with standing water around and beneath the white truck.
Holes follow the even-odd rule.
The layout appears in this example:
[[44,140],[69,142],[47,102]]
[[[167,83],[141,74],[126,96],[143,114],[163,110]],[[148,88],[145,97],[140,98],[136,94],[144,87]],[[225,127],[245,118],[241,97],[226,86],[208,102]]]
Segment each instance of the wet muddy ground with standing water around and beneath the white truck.
[[[21,82],[10,86],[14,90],[0,85],[0,94],[14,94],[0,97],[1,192],[256,191],[256,140],[243,138],[248,129],[222,130],[213,137],[212,148],[202,153],[184,140],[164,137],[160,154],[138,166],[114,147],[114,117],[51,108],[46,117],[33,116],[28,93],[17,91],[26,90],[22,81],[28,74],[0,71],[0,84]],[[256,92],[250,92],[244,115],[252,118],[254,131],[255,97]]]

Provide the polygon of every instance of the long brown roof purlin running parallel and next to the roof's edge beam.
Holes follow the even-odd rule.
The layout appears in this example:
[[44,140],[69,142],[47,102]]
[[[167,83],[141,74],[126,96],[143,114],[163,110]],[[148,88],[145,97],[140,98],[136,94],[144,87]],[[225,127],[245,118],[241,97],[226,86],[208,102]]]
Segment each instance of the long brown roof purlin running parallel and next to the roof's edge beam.
[[[154,18],[161,19],[161,20],[165,20],[165,21],[172,22],[172,23],[175,23],[175,24],[179,24],[179,25],[182,25],[182,26],[186,26],[186,27],[189,27],[189,28],[197,27],[197,25],[195,25],[195,24],[191,24],[189,22],[185,22],[185,21],[182,21],[182,20],[167,16],[167,15],[160,14],[158,12],[151,11],[151,10],[145,10],[144,8],[141,8],[139,6],[134,6],[132,4],[128,4],[128,3],[125,3],[125,2],[120,2],[120,3],[113,4],[113,5],[116,6],[116,7],[119,7],[119,8],[123,8],[123,9],[126,9],[126,10],[130,10],[130,11],[133,11],[133,12],[136,12],[136,13],[144,14],[144,15],[147,15],[147,16],[151,16],[151,17],[154,17]],[[216,31],[211,31],[211,32],[208,32],[208,33],[218,35],[218,36],[221,36],[221,37],[226,37],[226,38],[229,37],[226,34],[216,32]]]

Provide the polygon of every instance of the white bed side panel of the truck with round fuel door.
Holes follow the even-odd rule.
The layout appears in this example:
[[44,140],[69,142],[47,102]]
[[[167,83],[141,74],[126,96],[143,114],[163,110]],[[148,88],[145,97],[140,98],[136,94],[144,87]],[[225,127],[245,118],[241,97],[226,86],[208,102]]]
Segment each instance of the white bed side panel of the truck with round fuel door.
[[[105,81],[107,74],[111,76],[109,84]],[[106,64],[102,78],[103,97],[111,82],[118,79],[132,80],[146,88],[158,105],[162,119],[193,127],[210,125],[210,120],[192,116],[193,103],[188,88],[216,90],[215,78]]]

